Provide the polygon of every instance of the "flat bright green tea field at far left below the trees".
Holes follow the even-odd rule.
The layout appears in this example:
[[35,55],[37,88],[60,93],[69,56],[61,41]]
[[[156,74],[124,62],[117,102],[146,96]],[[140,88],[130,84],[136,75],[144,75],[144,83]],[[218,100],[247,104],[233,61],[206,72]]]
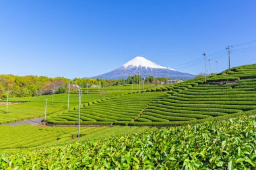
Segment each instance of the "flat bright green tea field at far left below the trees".
[[[10,104],[8,107],[8,114],[6,114],[6,105],[0,105],[0,124],[10,122],[17,122],[30,118],[38,118],[44,116],[45,99],[47,99],[47,114],[59,112],[67,108],[67,95],[57,94],[54,97],[52,104],[52,95],[43,95],[39,97],[21,97],[10,98],[11,102],[22,102],[17,104]],[[88,95],[82,97],[84,102],[98,99],[98,95]],[[70,106],[77,105],[77,94],[72,94],[70,97]]]

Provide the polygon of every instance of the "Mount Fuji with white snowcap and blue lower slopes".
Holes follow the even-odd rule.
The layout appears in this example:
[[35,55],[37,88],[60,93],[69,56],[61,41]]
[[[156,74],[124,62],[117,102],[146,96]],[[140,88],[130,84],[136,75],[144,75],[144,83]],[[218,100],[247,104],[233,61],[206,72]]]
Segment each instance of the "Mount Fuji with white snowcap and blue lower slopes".
[[181,73],[168,67],[162,67],[155,62],[147,60],[141,56],[136,56],[132,60],[126,62],[123,66],[92,78],[96,79],[127,79],[129,76],[138,75],[141,77],[169,77],[171,79],[192,79],[195,75],[189,73]]

